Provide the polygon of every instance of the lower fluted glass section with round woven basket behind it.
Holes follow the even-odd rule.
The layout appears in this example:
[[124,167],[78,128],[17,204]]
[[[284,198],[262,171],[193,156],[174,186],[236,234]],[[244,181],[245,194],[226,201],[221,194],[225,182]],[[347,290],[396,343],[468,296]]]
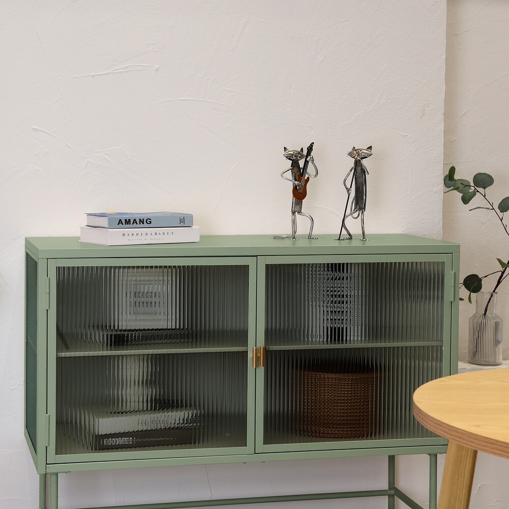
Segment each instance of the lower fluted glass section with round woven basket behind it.
[[441,374],[438,345],[269,351],[264,444],[433,437],[412,394]]

